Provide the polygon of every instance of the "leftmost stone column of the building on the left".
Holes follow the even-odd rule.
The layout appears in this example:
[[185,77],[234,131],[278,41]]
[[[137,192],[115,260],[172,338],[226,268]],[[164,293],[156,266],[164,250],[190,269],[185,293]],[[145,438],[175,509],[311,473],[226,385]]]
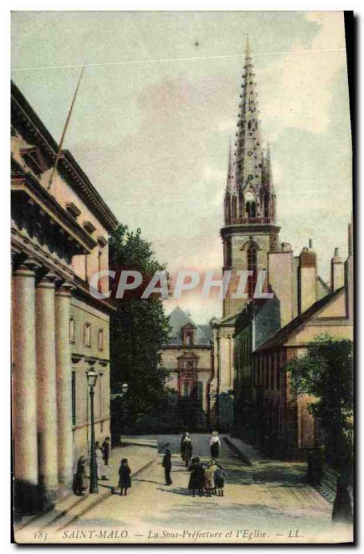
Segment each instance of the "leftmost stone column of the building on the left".
[[35,512],[38,492],[34,265],[12,277],[12,425],[15,510]]

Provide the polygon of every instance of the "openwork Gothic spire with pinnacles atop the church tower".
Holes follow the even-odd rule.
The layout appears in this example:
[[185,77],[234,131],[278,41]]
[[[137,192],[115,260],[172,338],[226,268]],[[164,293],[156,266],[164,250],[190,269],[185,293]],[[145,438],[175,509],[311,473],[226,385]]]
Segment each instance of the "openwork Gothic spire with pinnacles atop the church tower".
[[228,179],[231,180],[231,185],[235,184],[235,191],[230,188],[229,197],[226,195],[225,198],[225,224],[273,223],[275,202],[271,161],[269,152],[265,157],[262,149],[257,84],[248,38],[242,79],[235,133],[233,177],[230,166],[228,169]]

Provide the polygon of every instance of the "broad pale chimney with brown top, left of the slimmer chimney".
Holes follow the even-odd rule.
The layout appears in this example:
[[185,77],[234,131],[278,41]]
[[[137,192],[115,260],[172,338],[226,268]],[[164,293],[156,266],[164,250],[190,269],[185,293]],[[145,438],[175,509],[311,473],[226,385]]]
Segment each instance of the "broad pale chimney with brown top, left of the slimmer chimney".
[[298,265],[298,314],[302,314],[316,302],[316,280],[316,252],[312,249],[310,239],[309,248],[302,248]]

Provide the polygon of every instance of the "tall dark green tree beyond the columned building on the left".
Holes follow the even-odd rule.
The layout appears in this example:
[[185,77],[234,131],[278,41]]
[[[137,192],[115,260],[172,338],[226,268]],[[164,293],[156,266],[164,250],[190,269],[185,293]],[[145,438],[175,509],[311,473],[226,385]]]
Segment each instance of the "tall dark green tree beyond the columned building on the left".
[[[120,398],[113,402],[111,411],[125,429],[155,412],[166,395],[168,372],[159,350],[167,341],[168,319],[160,295],[140,298],[149,278],[165,267],[154,258],[151,243],[141,237],[140,229],[133,232],[123,225],[109,239],[109,266],[116,271],[116,284],[123,269],[144,276],[136,292],[116,298],[118,311],[110,322],[111,392],[120,393],[122,383],[128,384],[127,394],[121,402]],[[115,429],[115,421],[113,424]]]

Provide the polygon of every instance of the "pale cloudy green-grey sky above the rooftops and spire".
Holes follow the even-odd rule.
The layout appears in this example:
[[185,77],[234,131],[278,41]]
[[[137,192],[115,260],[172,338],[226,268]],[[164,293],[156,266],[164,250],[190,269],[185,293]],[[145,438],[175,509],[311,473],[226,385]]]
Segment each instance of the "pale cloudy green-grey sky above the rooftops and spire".
[[[12,79],[59,141],[87,64],[64,148],[171,274],[218,274],[247,33],[280,241],[298,255],[311,238],[329,280],[352,212],[341,12],[12,12]],[[216,294],[177,303],[221,316]]]

